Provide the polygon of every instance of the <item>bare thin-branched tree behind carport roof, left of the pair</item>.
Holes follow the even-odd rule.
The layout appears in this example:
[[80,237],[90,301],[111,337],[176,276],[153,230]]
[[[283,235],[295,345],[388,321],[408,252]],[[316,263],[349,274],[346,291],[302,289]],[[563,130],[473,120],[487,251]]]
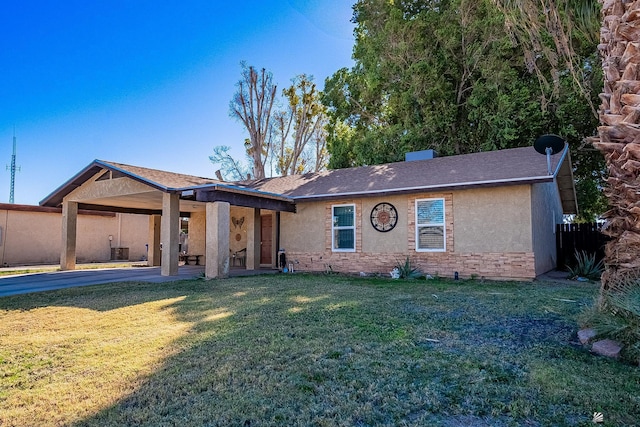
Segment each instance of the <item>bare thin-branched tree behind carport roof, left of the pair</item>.
[[253,160],[253,177],[261,179],[265,177],[264,166],[270,153],[268,135],[277,86],[264,68],[258,71],[244,62],[241,66],[242,78],[229,104],[229,114],[240,120],[249,133],[245,148]]

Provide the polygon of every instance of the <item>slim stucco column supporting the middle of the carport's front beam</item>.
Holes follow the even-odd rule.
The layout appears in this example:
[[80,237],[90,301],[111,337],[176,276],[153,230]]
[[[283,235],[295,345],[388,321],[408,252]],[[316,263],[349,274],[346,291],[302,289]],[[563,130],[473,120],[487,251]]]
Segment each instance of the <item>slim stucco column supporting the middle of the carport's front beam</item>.
[[162,193],[162,220],[160,222],[163,276],[178,275],[178,245],[180,243],[180,195]]

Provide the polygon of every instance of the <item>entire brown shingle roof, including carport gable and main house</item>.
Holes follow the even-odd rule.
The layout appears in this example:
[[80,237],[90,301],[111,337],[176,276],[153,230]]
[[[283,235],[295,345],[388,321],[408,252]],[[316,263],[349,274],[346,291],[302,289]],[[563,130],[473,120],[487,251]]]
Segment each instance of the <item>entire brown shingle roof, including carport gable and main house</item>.
[[263,193],[265,197],[282,195],[294,201],[551,182],[557,176],[565,213],[577,213],[568,156],[568,146],[551,156],[554,175],[547,172],[545,156],[533,147],[525,147],[235,183],[95,160],[40,204],[58,206],[64,196],[103,169],[119,171],[161,191],[228,187]]

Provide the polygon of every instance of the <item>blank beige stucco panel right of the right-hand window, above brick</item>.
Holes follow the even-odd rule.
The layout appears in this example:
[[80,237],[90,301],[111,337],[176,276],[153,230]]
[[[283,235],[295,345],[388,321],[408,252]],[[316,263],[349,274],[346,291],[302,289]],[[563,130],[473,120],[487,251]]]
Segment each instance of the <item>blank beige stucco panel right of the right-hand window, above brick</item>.
[[529,185],[453,193],[456,252],[532,252]]

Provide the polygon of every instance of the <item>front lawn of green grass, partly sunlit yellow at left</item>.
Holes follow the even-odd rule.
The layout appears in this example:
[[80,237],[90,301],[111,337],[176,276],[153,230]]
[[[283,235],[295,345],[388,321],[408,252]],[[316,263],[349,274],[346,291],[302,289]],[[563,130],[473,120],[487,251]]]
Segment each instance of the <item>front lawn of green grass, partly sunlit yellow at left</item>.
[[278,275],[0,299],[0,426],[640,423],[589,284]]

